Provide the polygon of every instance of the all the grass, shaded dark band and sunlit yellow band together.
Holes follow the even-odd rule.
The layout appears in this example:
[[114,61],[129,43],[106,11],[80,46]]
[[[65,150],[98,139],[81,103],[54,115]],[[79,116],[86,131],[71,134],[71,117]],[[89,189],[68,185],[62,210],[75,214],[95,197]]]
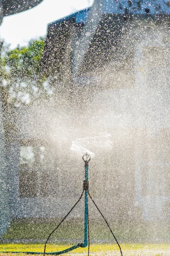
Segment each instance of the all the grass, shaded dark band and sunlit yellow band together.
[[[44,244],[40,243],[38,239],[46,239],[48,234],[59,223],[59,219],[55,220],[14,220],[8,228],[6,235],[3,239],[33,239],[32,244],[0,244],[0,251],[36,251],[43,252]],[[110,222],[111,228],[118,239],[118,241],[126,241],[120,243],[123,251],[123,256],[170,256],[170,243],[140,243],[147,239],[166,239],[162,241],[170,242],[170,223],[157,222],[155,223],[121,223]],[[84,236],[84,221],[77,221],[69,219],[65,221],[51,239],[81,239]],[[103,222],[92,221],[90,222],[90,238],[91,239],[108,239],[110,244],[91,244],[90,255],[93,256],[120,256],[119,247],[114,243],[113,236],[111,235],[108,227]],[[37,241],[38,244],[35,244]],[[168,240],[169,239],[169,240]],[[76,244],[76,242],[74,243]],[[47,252],[55,252],[64,250],[73,244],[64,244],[64,242],[49,241],[46,247]],[[77,248],[68,254],[78,255],[83,253],[87,255],[88,247]],[[0,253],[0,256],[26,256],[24,253],[11,254]]]

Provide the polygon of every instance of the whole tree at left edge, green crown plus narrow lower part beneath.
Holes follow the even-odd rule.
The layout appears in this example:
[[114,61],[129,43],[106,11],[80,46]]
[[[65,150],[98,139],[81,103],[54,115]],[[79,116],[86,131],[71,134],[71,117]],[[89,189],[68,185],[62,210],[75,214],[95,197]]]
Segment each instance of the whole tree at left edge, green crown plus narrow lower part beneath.
[[[48,78],[41,72],[44,41],[33,40],[27,47],[10,50],[3,47],[0,58],[0,97],[3,108],[3,128],[6,141],[17,135],[15,110],[48,98],[53,93]],[[13,135],[12,135],[13,134]]]

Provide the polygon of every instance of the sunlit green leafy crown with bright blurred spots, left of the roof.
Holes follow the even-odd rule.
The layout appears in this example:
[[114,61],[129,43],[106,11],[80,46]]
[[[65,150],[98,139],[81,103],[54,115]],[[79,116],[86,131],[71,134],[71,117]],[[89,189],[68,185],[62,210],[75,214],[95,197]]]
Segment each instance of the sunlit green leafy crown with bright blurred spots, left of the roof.
[[27,47],[4,48],[0,58],[0,76],[11,104],[28,104],[52,93],[47,78],[41,72],[43,50],[42,38],[30,41]]

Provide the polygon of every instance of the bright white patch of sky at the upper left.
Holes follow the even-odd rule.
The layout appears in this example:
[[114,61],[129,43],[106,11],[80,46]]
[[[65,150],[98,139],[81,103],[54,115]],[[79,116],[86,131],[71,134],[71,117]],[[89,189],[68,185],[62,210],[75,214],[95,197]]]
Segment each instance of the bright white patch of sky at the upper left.
[[71,13],[85,9],[94,0],[43,0],[38,6],[3,18],[0,38],[13,49],[25,46],[31,39],[45,36],[47,24]]

